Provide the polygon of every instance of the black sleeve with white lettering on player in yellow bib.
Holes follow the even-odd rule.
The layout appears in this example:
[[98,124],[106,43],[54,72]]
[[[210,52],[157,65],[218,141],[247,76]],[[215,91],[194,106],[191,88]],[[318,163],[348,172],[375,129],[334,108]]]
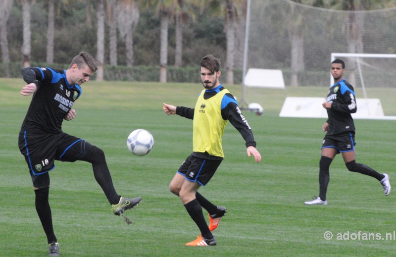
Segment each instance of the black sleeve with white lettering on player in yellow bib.
[[221,115],[223,116],[224,120],[228,119],[230,123],[239,131],[239,133],[241,133],[246,142],[246,147],[256,147],[256,142],[254,141],[251,128],[236,103],[228,103],[227,106],[221,110]]

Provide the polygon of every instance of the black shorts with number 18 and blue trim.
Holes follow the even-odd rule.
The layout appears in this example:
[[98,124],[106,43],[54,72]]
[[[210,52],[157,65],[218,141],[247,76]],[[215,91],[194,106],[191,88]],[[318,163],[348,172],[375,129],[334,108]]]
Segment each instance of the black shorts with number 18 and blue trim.
[[68,150],[78,142],[85,141],[63,132],[55,134],[24,129],[19,132],[19,150],[32,176],[49,172],[55,167],[54,160],[76,161],[81,151]]

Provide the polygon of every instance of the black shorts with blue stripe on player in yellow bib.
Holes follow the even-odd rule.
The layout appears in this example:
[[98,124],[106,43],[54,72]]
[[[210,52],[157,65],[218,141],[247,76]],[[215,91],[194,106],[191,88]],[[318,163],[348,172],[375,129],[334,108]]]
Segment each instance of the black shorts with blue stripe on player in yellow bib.
[[177,171],[188,181],[205,186],[213,177],[222,160],[203,159],[190,155]]

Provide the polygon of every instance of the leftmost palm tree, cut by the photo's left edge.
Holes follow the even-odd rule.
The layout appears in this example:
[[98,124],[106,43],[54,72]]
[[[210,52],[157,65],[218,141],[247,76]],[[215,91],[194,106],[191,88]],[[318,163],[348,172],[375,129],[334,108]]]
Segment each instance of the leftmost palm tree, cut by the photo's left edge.
[[10,76],[9,71],[9,51],[7,39],[7,20],[11,12],[13,0],[0,1],[0,48],[1,59],[5,65],[5,76]]

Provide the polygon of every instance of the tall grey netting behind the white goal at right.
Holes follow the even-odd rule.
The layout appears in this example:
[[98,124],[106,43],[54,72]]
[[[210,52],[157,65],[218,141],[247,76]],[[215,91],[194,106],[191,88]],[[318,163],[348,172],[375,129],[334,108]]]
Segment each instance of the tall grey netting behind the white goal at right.
[[[396,8],[341,11],[250,0],[249,10],[245,70],[279,69],[287,87],[329,87],[332,53],[370,53],[378,56],[333,56],[346,62],[345,79],[364,87],[367,98],[379,98],[372,93],[378,88],[396,88]],[[244,101],[260,103],[258,90],[244,86]],[[396,115],[395,104],[389,104],[394,110],[383,105],[386,115]]]

